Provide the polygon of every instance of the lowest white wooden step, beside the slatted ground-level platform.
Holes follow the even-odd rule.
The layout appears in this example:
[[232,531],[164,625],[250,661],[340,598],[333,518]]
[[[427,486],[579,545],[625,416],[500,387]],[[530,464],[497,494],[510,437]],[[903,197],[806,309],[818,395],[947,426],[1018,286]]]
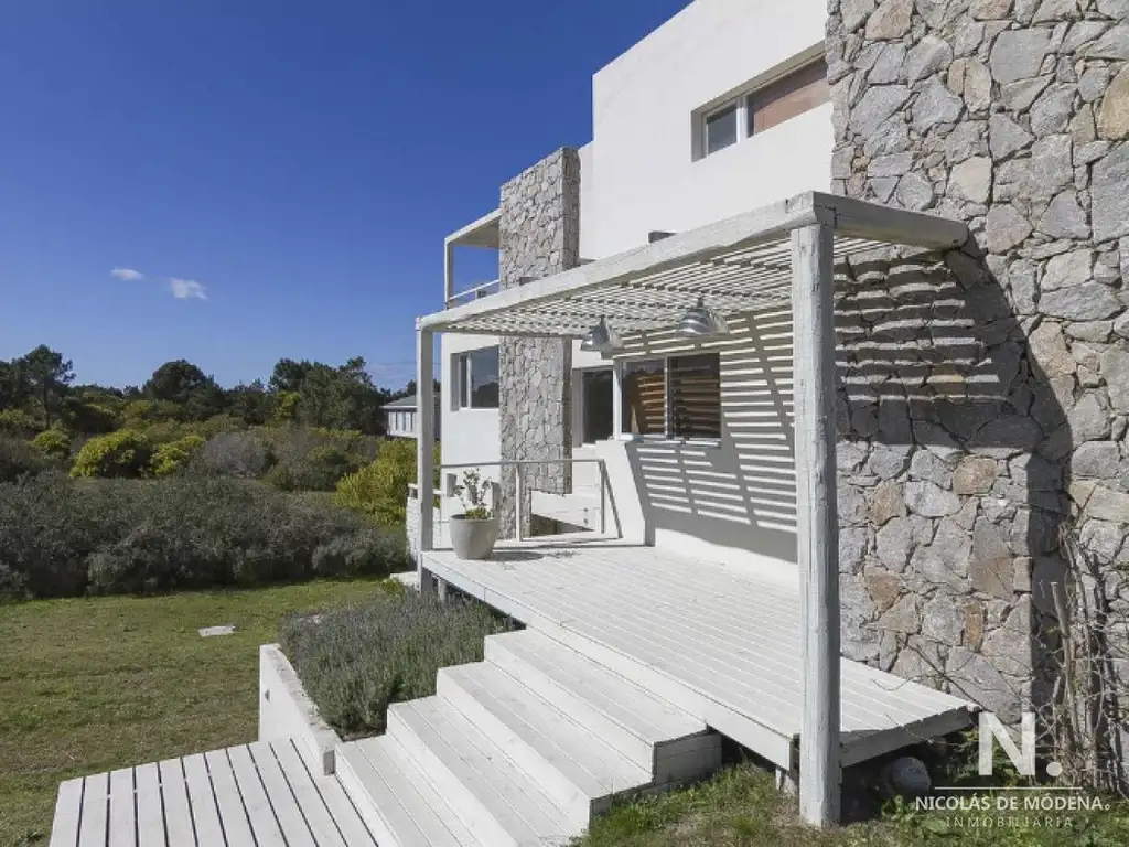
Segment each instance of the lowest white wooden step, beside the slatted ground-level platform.
[[380,847],[478,847],[390,736],[342,744],[336,757],[338,780]]

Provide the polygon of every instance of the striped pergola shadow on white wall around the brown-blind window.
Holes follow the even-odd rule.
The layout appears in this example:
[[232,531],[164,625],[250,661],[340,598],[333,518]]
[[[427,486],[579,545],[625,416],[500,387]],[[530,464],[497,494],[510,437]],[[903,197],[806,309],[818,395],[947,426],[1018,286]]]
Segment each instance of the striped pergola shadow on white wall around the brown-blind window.
[[719,444],[625,445],[650,531],[796,560],[791,314],[729,321],[733,334],[694,347],[673,333],[628,341],[632,356],[714,352],[721,367]]

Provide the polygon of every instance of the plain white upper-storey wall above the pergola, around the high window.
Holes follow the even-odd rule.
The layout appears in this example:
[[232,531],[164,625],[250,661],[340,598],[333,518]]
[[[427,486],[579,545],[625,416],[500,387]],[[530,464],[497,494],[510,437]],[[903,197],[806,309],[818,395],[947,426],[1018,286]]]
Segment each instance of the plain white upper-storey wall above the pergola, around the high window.
[[821,44],[825,0],[695,0],[593,78],[581,255],[603,259],[831,181],[831,105],[693,160],[695,110]]

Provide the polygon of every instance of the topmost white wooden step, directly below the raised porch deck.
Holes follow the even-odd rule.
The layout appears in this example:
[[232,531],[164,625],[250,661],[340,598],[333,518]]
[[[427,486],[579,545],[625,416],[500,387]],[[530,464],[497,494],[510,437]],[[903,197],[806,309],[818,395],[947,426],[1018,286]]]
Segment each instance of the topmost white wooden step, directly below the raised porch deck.
[[599,735],[659,784],[720,765],[706,724],[604,665],[532,629],[490,636],[485,660]]

